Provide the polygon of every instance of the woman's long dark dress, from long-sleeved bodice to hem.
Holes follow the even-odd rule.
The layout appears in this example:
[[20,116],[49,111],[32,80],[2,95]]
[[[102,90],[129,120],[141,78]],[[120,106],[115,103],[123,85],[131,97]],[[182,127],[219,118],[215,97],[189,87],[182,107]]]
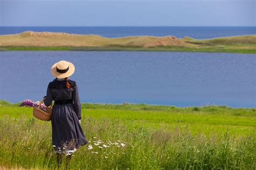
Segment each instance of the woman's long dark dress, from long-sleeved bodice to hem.
[[66,87],[66,80],[55,79],[48,85],[44,104],[50,106],[52,100],[52,145],[55,152],[75,152],[88,143],[82,127],[81,104],[76,81],[68,80],[71,87]]

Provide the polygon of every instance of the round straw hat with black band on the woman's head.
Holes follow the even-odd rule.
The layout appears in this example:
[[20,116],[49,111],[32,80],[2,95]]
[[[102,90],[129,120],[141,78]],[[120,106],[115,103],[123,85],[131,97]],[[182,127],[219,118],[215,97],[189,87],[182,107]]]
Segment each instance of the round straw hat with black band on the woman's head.
[[75,72],[75,66],[65,60],[55,63],[51,67],[51,73],[54,77],[65,78],[71,76]]

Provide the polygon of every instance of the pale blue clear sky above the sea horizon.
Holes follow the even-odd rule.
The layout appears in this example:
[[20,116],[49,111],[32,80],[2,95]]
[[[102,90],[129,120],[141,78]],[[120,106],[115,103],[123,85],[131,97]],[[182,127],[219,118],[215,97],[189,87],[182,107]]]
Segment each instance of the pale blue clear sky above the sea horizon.
[[0,0],[0,26],[255,26],[254,0]]

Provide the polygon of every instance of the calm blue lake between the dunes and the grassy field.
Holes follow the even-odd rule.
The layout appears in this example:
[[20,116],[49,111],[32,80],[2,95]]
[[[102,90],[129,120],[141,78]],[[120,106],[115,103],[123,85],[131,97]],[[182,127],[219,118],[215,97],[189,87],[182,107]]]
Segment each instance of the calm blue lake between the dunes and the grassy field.
[[256,107],[256,55],[204,52],[0,52],[0,99],[40,100],[59,60],[83,103]]

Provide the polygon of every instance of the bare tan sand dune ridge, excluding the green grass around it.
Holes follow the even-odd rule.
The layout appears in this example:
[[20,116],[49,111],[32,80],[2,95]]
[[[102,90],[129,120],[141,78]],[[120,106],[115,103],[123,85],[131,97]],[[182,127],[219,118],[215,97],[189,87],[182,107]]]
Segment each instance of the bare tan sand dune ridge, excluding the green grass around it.
[[76,35],[62,32],[26,31],[0,36],[0,46],[184,46],[191,45],[174,36],[133,36],[106,38],[98,35]]

